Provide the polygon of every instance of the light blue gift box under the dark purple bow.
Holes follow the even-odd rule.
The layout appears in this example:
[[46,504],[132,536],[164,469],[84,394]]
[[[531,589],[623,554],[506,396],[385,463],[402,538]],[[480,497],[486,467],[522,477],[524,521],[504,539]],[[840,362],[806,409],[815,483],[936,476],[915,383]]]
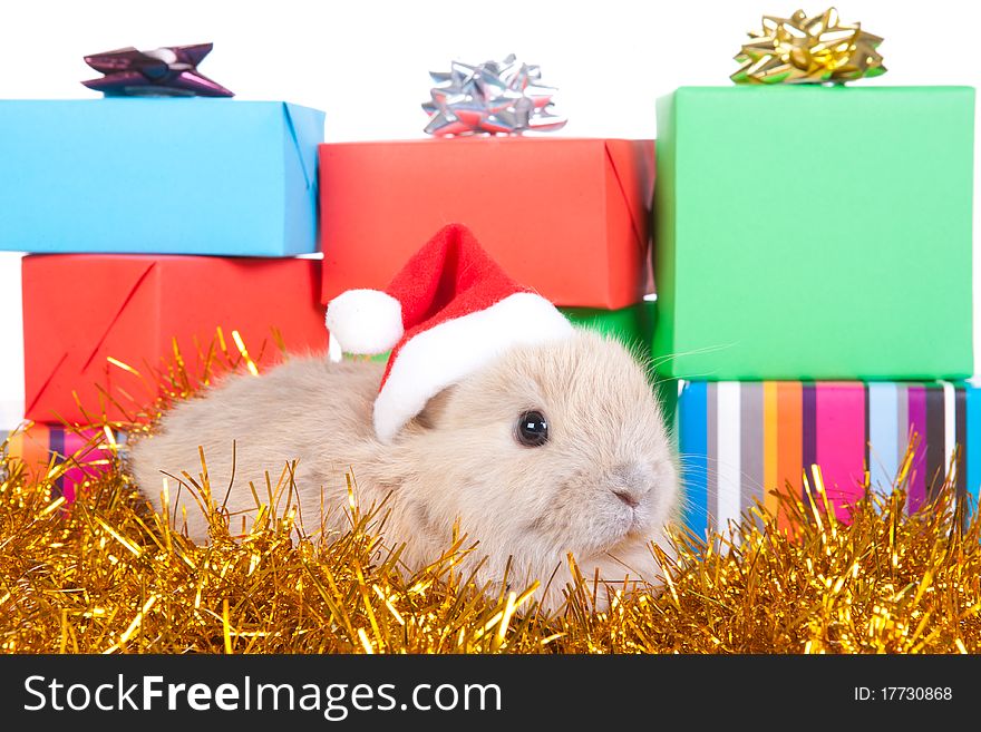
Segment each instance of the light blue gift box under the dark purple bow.
[[281,101],[0,100],[0,250],[315,252],[322,140]]

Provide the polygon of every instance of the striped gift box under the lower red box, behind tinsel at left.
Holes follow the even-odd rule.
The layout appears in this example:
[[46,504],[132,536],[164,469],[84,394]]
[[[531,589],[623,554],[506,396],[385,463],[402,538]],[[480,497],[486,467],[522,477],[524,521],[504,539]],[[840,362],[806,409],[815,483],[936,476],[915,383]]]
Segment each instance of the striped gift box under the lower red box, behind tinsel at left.
[[[125,441],[125,435],[114,433],[117,445]],[[35,423],[27,429],[13,432],[0,431],[0,445],[7,443],[7,455],[25,463],[29,475],[46,471],[55,456],[59,465],[71,457],[75,466],[68,468],[55,481],[55,488],[71,502],[76,488],[108,468],[111,455],[106,445],[103,430],[91,428],[65,428],[57,424]]]

